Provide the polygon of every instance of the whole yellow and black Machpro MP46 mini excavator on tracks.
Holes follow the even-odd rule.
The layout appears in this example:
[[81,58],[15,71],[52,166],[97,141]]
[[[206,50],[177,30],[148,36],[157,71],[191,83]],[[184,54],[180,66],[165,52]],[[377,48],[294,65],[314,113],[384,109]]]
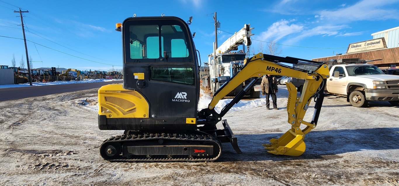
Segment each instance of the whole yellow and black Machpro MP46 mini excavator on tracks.
[[[106,139],[100,147],[101,156],[122,162],[215,161],[221,155],[222,143],[231,143],[241,153],[237,138],[222,117],[264,74],[305,79],[300,97],[294,85],[286,84],[291,128],[264,145],[275,155],[302,155],[304,135],[316,127],[322,107],[327,65],[259,53],[246,59],[241,71],[215,92],[208,108],[198,111],[200,62],[190,23],[191,19],[186,23],[167,16],[132,17],[117,23],[116,30],[122,31],[124,80],[123,84],[99,89],[98,125],[101,130],[124,130],[124,134]],[[306,71],[286,63],[318,68]],[[220,113],[215,112],[221,98],[251,77],[255,78]],[[312,121],[307,122],[303,117],[312,97],[315,111]],[[223,128],[218,129],[220,121]]]

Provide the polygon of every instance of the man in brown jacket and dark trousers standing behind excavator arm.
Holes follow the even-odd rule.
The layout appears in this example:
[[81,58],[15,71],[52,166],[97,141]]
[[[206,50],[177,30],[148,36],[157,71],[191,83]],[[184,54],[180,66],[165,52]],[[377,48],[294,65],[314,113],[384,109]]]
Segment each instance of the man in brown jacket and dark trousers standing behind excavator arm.
[[270,74],[267,74],[266,76],[263,76],[262,82],[261,82],[261,88],[262,88],[262,95],[266,94],[266,108],[269,110],[270,106],[270,101],[269,97],[272,96],[273,100],[273,109],[279,110],[277,108],[277,96],[276,92],[279,92],[279,89],[277,88],[277,79],[275,76],[272,76]]

